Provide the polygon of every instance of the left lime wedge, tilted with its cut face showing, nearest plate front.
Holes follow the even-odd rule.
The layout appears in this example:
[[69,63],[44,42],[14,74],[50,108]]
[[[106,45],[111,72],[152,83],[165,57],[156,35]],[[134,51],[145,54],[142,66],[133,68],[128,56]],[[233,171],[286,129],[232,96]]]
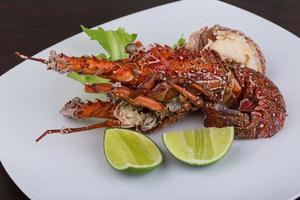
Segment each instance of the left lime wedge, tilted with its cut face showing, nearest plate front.
[[150,138],[128,129],[106,129],[104,152],[108,163],[120,171],[143,173],[162,162],[161,152]]

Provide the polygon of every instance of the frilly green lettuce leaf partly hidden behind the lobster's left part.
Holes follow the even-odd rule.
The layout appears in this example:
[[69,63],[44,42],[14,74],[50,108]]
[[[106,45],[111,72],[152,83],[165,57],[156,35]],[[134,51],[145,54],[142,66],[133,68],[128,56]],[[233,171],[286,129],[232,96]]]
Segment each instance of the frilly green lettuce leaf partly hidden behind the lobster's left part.
[[[104,53],[100,53],[97,57],[112,61],[128,58],[125,48],[128,44],[133,43],[137,37],[137,34],[129,34],[123,28],[107,31],[101,27],[98,29],[88,29],[81,26],[81,28],[88,36],[90,36],[91,40],[96,40],[109,54],[107,56]],[[67,76],[82,84],[88,85],[109,82],[108,79],[104,79],[99,76],[82,75],[76,72],[71,72]]]

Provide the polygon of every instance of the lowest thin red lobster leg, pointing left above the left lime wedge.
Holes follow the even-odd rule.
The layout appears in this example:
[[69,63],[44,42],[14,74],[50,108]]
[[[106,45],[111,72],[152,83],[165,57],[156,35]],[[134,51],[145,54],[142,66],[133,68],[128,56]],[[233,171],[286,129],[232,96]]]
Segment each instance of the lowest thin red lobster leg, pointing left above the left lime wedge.
[[96,128],[104,128],[104,127],[114,127],[118,125],[118,120],[113,120],[109,119],[101,123],[93,124],[90,126],[84,126],[84,127],[79,127],[79,128],[62,128],[62,129],[52,129],[52,130],[47,130],[45,131],[41,136],[39,136],[35,141],[38,142],[41,139],[43,139],[45,136],[49,134],[55,134],[55,133],[60,133],[60,134],[70,134],[70,133],[76,133],[76,132],[81,132],[81,131],[88,131]]

